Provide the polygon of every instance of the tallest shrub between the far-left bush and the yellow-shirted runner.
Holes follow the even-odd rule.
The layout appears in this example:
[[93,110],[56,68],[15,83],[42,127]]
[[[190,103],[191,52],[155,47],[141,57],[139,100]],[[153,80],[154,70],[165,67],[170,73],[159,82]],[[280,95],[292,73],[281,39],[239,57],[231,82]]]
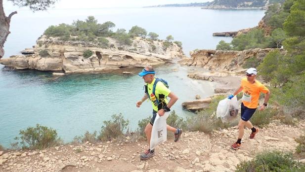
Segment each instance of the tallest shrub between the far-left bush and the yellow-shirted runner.
[[124,136],[123,132],[128,128],[129,120],[125,120],[121,113],[112,115],[112,119],[103,121],[104,126],[102,126],[100,135],[98,136],[100,140],[107,141],[119,139]]

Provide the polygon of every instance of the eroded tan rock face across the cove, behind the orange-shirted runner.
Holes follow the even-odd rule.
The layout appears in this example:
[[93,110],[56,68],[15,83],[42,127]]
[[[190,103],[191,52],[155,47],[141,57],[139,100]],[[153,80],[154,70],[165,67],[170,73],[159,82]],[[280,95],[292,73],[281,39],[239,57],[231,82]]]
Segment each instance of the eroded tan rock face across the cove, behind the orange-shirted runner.
[[256,57],[262,60],[271,48],[248,49],[244,51],[197,50],[191,52],[191,58],[183,58],[181,65],[203,67],[211,71],[236,71],[249,58]]

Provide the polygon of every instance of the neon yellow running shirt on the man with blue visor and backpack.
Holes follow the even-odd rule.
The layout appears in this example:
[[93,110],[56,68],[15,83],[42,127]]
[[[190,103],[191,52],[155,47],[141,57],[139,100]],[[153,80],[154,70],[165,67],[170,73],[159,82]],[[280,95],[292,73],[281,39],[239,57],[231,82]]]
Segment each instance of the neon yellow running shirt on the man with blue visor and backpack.
[[[150,84],[147,84],[147,91],[148,91],[149,97],[152,94],[152,90],[153,90],[155,81],[156,81],[156,78],[154,78],[154,80]],[[171,90],[168,89],[162,82],[158,82],[156,85],[155,93],[156,93],[156,95],[155,95],[156,98],[159,100],[160,94],[163,94],[163,95],[165,95],[165,97],[167,97],[171,93]],[[163,101],[165,103],[168,103],[168,100],[166,98]],[[158,106],[155,106],[155,104],[152,101],[151,101],[151,104],[153,106],[153,109],[155,111],[158,111]]]

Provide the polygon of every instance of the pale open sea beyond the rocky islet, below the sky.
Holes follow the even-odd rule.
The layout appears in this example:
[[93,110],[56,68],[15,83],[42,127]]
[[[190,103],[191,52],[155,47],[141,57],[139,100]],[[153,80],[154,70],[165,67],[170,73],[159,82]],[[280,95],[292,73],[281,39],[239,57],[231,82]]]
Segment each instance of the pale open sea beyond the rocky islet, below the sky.
[[[10,12],[6,11],[6,14]],[[264,11],[210,10],[198,7],[51,9],[35,13],[20,10],[11,20],[11,34],[5,43],[5,56],[31,48],[50,25],[72,24],[74,20],[85,20],[89,15],[94,16],[99,23],[112,21],[116,24],[114,31],[118,28],[129,31],[137,25],[146,29],[147,33],[159,34],[160,39],[166,39],[171,34],[174,40],[182,42],[184,53],[189,55],[189,51],[194,49],[215,49],[220,40],[230,42],[231,37],[212,34],[255,27]]]

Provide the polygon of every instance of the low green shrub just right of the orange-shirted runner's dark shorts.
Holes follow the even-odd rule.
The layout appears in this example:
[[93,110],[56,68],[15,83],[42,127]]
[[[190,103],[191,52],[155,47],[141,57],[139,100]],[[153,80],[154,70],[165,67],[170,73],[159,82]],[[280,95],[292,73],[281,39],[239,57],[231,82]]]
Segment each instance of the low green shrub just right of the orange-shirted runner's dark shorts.
[[253,114],[250,121],[253,125],[262,127],[270,123],[272,117],[276,114],[276,111],[271,108],[265,108],[264,110],[259,110],[259,108],[260,106]]

